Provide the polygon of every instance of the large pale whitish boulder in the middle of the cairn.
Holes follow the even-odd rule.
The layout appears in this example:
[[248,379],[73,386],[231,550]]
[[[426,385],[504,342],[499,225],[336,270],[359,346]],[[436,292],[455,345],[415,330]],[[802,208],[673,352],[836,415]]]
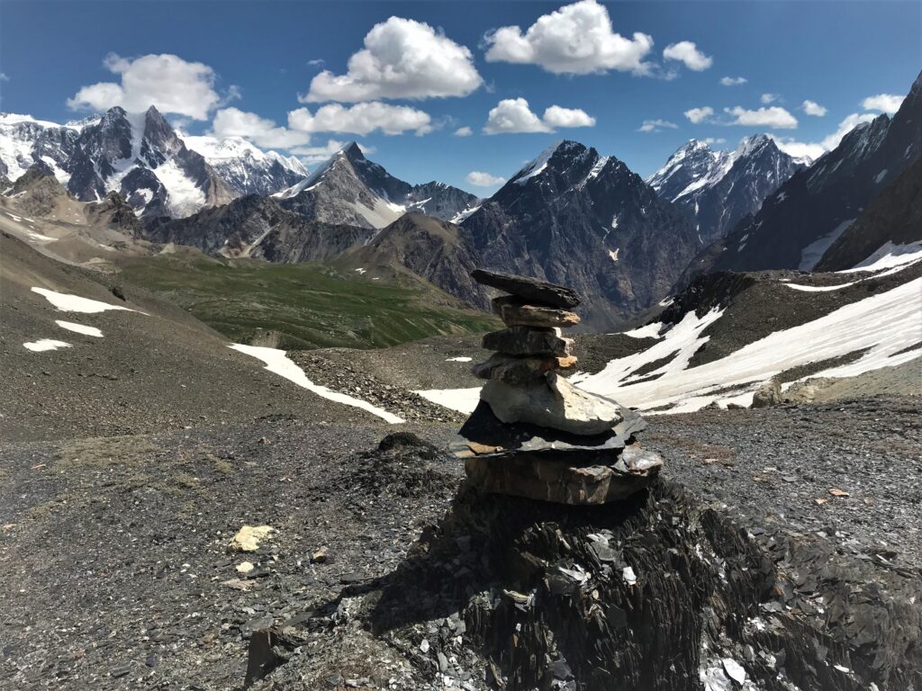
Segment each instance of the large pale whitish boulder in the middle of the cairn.
[[480,391],[502,422],[526,422],[578,435],[601,434],[621,422],[618,404],[580,391],[554,372],[526,384],[491,380]]

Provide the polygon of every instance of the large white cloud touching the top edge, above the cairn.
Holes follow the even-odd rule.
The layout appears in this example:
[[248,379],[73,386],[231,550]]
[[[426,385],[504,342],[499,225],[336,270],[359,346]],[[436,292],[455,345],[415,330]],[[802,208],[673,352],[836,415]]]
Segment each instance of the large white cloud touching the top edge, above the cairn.
[[653,37],[635,32],[628,39],[616,33],[609,10],[596,0],[563,6],[524,32],[517,26],[491,30],[484,40],[487,62],[538,64],[555,75],[608,70],[646,75],[653,68],[644,62]]

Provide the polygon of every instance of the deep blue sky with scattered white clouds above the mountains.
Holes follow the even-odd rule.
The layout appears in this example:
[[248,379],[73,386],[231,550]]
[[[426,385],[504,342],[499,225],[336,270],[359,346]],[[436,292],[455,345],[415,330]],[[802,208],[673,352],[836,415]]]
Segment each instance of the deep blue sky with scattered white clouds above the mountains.
[[[837,131],[892,110],[898,100],[866,99],[902,97],[922,67],[918,2],[3,0],[0,15],[4,111],[63,122],[152,100],[190,134],[282,143],[309,162],[356,139],[400,178],[479,194],[498,182],[472,180],[508,178],[561,138],[644,177],[691,137],[733,147],[769,132],[816,155]],[[502,27],[518,29],[485,38]],[[562,54],[555,35],[581,53]],[[353,61],[365,66],[350,69],[361,51],[367,60]],[[395,70],[396,81],[381,76]],[[182,87],[169,93],[158,75]],[[484,134],[501,101],[492,129],[504,131]],[[663,123],[644,132],[646,121]],[[337,131],[375,124],[407,129]],[[456,135],[463,127],[471,135]]]

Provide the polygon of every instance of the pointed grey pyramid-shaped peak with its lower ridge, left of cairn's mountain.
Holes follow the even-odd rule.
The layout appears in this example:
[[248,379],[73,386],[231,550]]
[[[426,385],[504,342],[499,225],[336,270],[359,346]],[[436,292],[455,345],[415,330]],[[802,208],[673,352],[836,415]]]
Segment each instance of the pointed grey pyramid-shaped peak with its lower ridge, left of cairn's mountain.
[[302,217],[359,228],[384,228],[408,210],[449,219],[477,200],[440,182],[411,185],[399,180],[365,158],[355,142],[275,196]]

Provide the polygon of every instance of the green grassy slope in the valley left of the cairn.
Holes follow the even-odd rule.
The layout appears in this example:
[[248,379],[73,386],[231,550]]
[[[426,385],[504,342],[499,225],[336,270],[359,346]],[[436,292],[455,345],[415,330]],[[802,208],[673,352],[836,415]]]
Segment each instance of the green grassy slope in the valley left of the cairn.
[[[195,252],[123,263],[126,283],[173,300],[231,340],[277,332],[283,348],[383,347],[497,328],[491,316],[447,306],[431,287],[344,277],[318,264],[217,260]],[[437,303],[437,304],[433,304]]]

